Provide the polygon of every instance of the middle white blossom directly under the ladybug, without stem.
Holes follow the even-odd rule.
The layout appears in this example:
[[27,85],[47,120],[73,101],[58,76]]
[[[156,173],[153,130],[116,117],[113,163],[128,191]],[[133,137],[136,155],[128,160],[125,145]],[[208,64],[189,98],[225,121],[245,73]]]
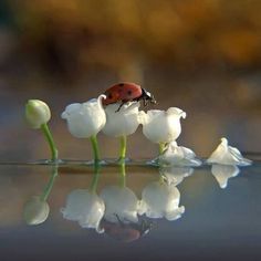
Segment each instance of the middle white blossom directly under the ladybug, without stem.
[[105,108],[106,124],[103,133],[113,137],[127,136],[136,132],[138,122],[139,103],[124,104],[122,108],[116,112],[118,104],[109,104]]

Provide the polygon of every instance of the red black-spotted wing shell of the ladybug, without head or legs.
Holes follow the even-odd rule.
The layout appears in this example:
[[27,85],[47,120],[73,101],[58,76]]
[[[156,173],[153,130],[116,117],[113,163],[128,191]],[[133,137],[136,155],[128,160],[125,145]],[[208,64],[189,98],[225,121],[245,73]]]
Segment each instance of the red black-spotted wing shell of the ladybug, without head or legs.
[[103,105],[108,105],[117,102],[130,102],[143,95],[143,90],[135,83],[117,83],[111,86],[104,93],[106,98],[103,100]]

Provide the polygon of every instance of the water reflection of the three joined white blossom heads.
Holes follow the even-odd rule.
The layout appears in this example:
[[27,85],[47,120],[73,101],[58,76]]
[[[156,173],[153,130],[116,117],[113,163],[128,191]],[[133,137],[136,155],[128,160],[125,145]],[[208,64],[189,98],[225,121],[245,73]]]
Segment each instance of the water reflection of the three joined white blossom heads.
[[176,184],[160,178],[143,188],[140,199],[126,186],[106,186],[100,195],[96,188],[74,189],[69,194],[61,212],[64,219],[103,233],[111,232],[111,228],[117,225],[121,229],[130,225],[137,228],[140,216],[176,220],[185,212],[185,207],[179,207],[179,201],[180,192]]

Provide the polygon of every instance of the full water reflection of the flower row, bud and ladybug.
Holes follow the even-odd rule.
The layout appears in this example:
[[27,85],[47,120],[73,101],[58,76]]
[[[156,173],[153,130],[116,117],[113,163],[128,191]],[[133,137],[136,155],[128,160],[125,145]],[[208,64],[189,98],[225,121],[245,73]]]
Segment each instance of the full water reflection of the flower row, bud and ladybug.
[[[94,168],[88,189],[74,189],[61,208],[63,218],[76,221],[82,228],[95,229],[123,241],[133,241],[150,231],[150,219],[179,219],[185,207],[179,206],[180,192],[177,188],[186,177],[194,173],[192,167],[161,166],[159,179],[147,182],[139,192],[140,198],[126,186],[125,164],[121,164],[119,185],[109,185],[97,194],[100,165]],[[226,188],[228,179],[239,174],[233,165],[213,165],[211,173],[220,188]],[[23,207],[23,218],[29,226],[43,223],[50,213],[48,197],[58,176],[58,167],[40,196],[31,196]],[[129,238],[128,231],[133,237]],[[134,231],[136,230],[136,231]]]

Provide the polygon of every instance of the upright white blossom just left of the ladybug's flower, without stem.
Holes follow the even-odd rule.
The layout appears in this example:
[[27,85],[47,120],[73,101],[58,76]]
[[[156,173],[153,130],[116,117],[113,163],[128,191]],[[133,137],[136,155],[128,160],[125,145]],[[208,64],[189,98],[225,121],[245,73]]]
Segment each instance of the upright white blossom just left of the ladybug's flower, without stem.
[[73,103],[66,106],[62,113],[62,118],[67,121],[69,132],[76,138],[88,138],[95,136],[105,125],[106,115],[102,105],[102,100],[92,98],[86,103]]

